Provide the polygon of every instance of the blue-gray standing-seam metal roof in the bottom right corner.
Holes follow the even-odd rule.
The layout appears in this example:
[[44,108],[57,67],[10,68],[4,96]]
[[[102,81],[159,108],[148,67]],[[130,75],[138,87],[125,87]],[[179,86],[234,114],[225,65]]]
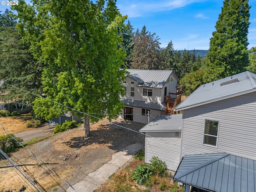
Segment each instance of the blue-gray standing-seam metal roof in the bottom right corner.
[[256,161],[227,153],[186,155],[173,180],[214,192],[256,191]]

